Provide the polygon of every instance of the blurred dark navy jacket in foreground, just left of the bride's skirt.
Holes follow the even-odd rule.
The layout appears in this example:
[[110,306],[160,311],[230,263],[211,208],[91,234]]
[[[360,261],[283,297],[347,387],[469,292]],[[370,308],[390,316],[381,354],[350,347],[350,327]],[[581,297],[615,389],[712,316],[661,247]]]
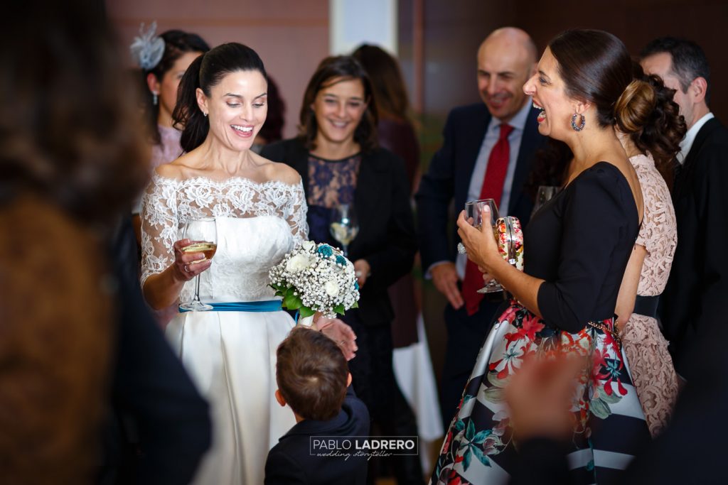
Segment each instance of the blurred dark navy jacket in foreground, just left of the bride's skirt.
[[119,334],[97,483],[187,484],[210,446],[207,403],[143,300],[136,247],[126,218],[111,246]]

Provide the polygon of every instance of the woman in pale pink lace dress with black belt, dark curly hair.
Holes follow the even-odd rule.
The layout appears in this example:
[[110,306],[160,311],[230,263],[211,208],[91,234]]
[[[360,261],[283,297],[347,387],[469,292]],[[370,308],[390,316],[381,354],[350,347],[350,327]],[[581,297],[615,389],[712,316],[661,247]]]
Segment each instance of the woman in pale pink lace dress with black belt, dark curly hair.
[[[642,187],[644,221],[625,270],[616,313],[637,396],[654,437],[665,427],[678,393],[668,342],[662,337],[655,315],[677,244],[668,181],[685,124],[677,116],[674,91],[656,76],[645,77],[644,81],[652,85],[654,92],[652,122],[637,130],[629,123],[619,127],[624,134],[620,140]],[[646,146],[652,151],[647,152]]]

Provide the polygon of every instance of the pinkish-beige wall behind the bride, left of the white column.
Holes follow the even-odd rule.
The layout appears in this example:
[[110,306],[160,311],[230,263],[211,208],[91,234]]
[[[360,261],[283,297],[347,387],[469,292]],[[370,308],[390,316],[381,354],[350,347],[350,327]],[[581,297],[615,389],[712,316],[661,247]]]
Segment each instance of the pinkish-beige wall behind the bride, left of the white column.
[[212,47],[237,41],[256,49],[286,103],[284,136],[295,135],[306,84],[328,55],[328,1],[106,0],[106,8],[123,45],[140,23],[157,20],[157,32],[179,28]]

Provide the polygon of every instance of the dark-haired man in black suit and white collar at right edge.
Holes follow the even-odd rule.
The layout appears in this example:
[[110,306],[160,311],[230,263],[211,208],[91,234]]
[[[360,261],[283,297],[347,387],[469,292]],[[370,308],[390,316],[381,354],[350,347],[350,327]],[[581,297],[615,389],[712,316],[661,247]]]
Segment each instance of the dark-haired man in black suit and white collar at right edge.
[[[700,334],[716,332],[716,316],[728,295],[728,130],[713,116],[710,69],[697,44],[664,37],[641,52],[646,73],[676,89],[688,131],[678,153],[673,204],[678,245],[662,296],[662,330],[678,374],[696,377],[689,358]],[[694,354],[691,354],[694,355]]]

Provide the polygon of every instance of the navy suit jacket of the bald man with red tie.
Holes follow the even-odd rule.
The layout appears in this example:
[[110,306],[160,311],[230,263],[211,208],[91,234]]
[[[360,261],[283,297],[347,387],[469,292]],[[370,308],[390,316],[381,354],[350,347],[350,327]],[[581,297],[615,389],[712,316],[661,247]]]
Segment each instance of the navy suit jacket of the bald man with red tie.
[[[535,108],[531,108],[523,127],[507,209],[507,215],[518,217],[523,227],[534,207],[533,201],[523,193],[523,185],[531,172],[534,153],[546,140],[539,135],[537,113]],[[455,108],[448,115],[443,130],[443,146],[432,157],[430,168],[423,175],[415,196],[424,269],[430,268],[433,262],[455,260],[454,245],[448,241],[449,206],[454,200],[456,213],[465,207],[470,177],[490,121],[491,114],[483,103]],[[454,241],[459,241],[457,227],[454,229]]]

